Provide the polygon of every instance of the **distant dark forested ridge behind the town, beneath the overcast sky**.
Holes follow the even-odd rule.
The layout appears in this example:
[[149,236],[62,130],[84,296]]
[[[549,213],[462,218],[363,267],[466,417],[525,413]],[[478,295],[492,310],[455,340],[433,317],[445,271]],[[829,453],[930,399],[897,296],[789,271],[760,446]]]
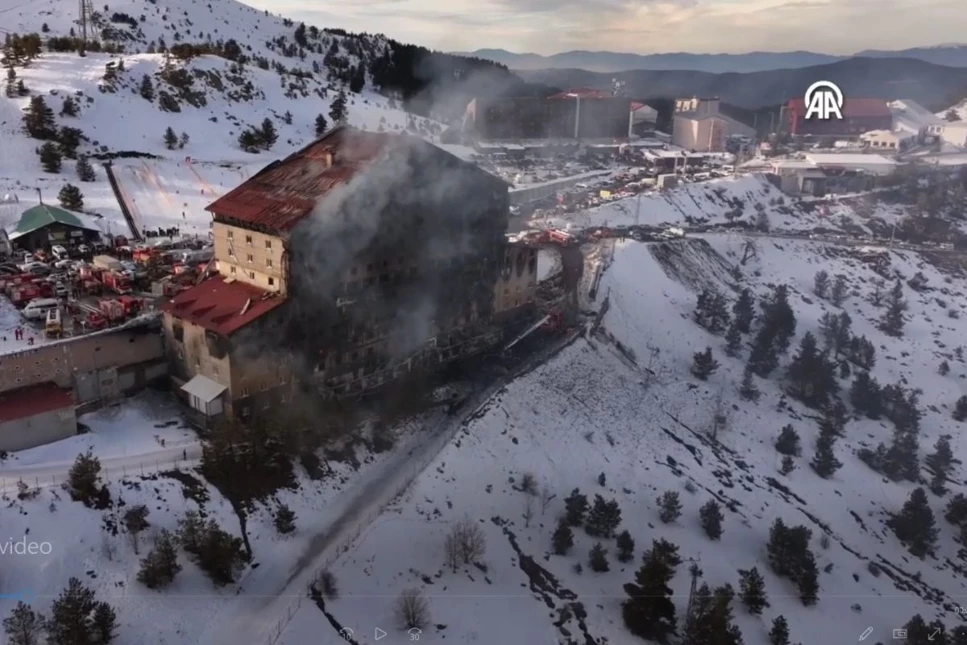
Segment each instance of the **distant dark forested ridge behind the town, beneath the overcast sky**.
[[950,104],[951,93],[967,87],[967,67],[943,67],[914,59],[850,58],[796,69],[748,74],[636,70],[617,74],[580,69],[521,71],[521,77],[556,87],[610,89],[612,79],[625,83],[630,96],[718,96],[733,105],[755,109],[801,96],[817,80],[832,81],[847,97],[896,99],[915,96],[934,110]]

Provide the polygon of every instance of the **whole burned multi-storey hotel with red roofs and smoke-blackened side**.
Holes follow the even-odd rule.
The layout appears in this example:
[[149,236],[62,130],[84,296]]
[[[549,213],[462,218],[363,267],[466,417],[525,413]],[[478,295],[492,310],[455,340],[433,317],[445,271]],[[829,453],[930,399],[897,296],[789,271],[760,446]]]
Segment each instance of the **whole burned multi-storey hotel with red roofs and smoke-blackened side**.
[[199,417],[296,385],[357,396],[492,348],[533,319],[537,254],[509,185],[405,134],[336,128],[218,198],[209,277],[163,306]]

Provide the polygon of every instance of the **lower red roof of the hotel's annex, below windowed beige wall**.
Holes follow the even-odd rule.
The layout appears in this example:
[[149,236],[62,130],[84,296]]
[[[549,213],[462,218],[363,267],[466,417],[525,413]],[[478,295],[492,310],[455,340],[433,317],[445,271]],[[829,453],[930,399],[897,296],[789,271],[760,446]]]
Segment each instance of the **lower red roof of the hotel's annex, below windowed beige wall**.
[[229,336],[285,302],[285,298],[244,282],[208,278],[161,305],[172,316]]

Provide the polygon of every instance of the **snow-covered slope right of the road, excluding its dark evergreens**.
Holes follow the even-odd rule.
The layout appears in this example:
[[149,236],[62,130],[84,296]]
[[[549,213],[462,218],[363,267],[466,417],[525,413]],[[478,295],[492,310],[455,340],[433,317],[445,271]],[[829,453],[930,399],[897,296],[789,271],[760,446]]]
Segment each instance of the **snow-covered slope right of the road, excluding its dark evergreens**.
[[[965,596],[965,583],[955,570],[960,562],[955,531],[942,519],[950,493],[930,497],[940,539],[936,558],[919,561],[884,527],[913,485],[884,480],[854,454],[862,446],[888,442],[892,426],[851,420],[836,449],[842,469],[830,480],[820,479],[808,466],[818,433],[815,412],[783,396],[774,381],[758,382],[758,402],[740,400],[743,360],[725,357],[722,339],[692,322],[698,286],[724,288],[732,282],[728,268],[741,262],[746,242],[740,235],[719,235],[661,246],[620,244],[601,284],[601,292],[610,289],[604,328],[638,363],[598,337],[578,341],[509,385],[333,567],[339,596],[326,604],[334,618],[365,638],[375,627],[405,638],[394,619],[396,596],[417,588],[432,615],[422,641],[554,643],[560,637],[553,625],[558,610],[580,602],[588,613],[587,633],[600,642],[628,643],[634,639],[622,624],[622,585],[633,580],[642,550],[664,537],[679,545],[686,560],[673,582],[679,616],[688,595],[688,559],[698,561],[704,580],[713,585],[735,586],[738,569],[757,566],[763,572],[771,608],[761,618],[736,608],[748,645],[765,645],[771,620],[779,614],[789,620],[793,642],[803,643],[846,642],[867,627],[874,629],[871,642],[886,642],[916,613],[958,624],[961,618],[952,607]],[[938,290],[905,290],[906,330],[894,339],[880,333],[881,310],[867,301],[877,276],[851,251],[799,241],[752,243],[755,254],[740,267],[741,285],[762,295],[769,284],[788,284],[797,340],[806,331],[817,332],[824,311],[836,311],[811,294],[814,273],[825,269],[848,276],[851,297],[844,310],[854,332],[877,348],[873,375],[884,384],[902,378],[924,391],[921,455],[941,434],[950,434],[954,454],[962,457],[967,445],[950,410],[963,392],[967,366],[952,350],[963,343],[967,323],[947,311],[963,307],[963,276],[941,273],[916,254],[891,253],[891,270],[906,279],[922,271]],[[689,368],[692,354],[706,345],[722,367],[702,383]],[[937,373],[942,357],[952,365],[948,376]],[[727,426],[716,444],[706,430],[720,393]],[[777,408],[780,401],[784,410]],[[782,476],[772,442],[787,423],[800,433],[804,456],[796,470]],[[528,502],[529,496],[515,488],[524,473],[534,474],[538,488],[554,496],[545,509],[543,495]],[[604,486],[600,473],[607,474]],[[957,481],[960,476],[954,473]],[[570,555],[550,555],[563,498],[575,487],[619,501],[619,528],[637,541],[632,562],[616,561],[613,542],[605,541],[611,571],[591,572],[587,553],[594,540],[580,530]],[[664,490],[678,491],[683,500],[683,515],[672,525],[661,524],[657,516],[655,499]],[[705,537],[698,525],[698,507],[712,497],[732,506],[720,542]],[[444,535],[465,517],[485,531],[487,553],[480,567],[461,567],[454,574],[444,565]],[[813,532],[821,585],[813,608],[804,608],[794,587],[765,564],[776,518]],[[827,546],[820,539],[824,533]],[[579,562],[580,573],[574,568]],[[876,573],[870,562],[879,566]],[[548,572],[543,580],[535,565]],[[581,629],[573,617],[563,624],[572,634]],[[303,602],[282,642],[317,638],[327,626],[319,609]]]

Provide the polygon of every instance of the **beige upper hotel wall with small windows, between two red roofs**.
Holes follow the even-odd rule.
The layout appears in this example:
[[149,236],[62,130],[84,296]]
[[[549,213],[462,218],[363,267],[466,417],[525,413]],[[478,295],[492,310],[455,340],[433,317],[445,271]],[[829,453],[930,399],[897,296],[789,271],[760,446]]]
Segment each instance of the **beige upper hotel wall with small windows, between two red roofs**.
[[218,221],[212,223],[212,234],[220,274],[268,291],[286,292],[282,238]]

